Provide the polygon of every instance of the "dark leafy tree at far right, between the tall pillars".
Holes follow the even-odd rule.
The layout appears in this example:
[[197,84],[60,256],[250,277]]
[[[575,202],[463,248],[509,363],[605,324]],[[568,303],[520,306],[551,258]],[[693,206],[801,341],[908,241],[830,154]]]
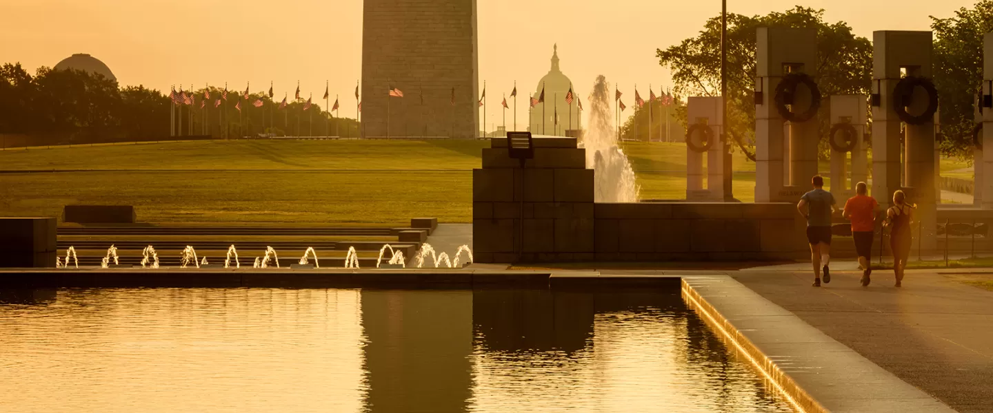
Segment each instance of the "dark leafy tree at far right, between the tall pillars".
[[[934,86],[940,99],[941,150],[970,157],[973,98],[983,80],[983,36],[993,32],[993,1],[981,0],[955,17],[931,16],[934,30]],[[966,156],[969,155],[969,156]]]

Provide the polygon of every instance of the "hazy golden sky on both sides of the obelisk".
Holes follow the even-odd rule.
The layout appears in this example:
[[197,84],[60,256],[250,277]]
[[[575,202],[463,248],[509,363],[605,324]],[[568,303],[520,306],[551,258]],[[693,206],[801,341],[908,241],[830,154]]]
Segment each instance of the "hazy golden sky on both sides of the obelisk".
[[[631,106],[635,83],[644,97],[649,83],[655,90],[669,85],[655,49],[694,36],[721,8],[717,0],[478,1],[480,82],[489,88],[488,124],[497,125],[498,96],[509,93],[514,80],[522,95],[533,92],[548,71],[553,44],[581,98],[595,76],[605,74],[620,83]],[[875,30],[928,30],[928,15],[949,17],[974,0],[728,3],[729,12],[748,15],[797,3],[823,8],[829,22],[844,20],[871,37]],[[250,81],[257,91],[274,81],[282,95],[292,94],[299,80],[304,96],[313,92],[320,99],[328,80],[332,99],[342,97],[342,115],[355,116],[361,0],[0,0],[0,11],[0,61],[21,61],[32,71],[85,52],[110,66],[122,84],[164,90],[225,81],[244,90]],[[517,106],[524,123],[526,98]]]

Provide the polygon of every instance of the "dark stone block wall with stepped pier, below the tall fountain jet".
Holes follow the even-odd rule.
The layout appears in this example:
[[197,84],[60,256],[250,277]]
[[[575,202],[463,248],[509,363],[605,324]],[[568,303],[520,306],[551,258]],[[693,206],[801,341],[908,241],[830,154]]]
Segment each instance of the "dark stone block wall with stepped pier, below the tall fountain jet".
[[491,143],[483,168],[473,171],[479,262],[517,261],[521,247],[525,262],[809,256],[806,225],[793,204],[594,203],[594,171],[575,139],[534,139],[534,158],[523,169],[507,157],[504,139]]

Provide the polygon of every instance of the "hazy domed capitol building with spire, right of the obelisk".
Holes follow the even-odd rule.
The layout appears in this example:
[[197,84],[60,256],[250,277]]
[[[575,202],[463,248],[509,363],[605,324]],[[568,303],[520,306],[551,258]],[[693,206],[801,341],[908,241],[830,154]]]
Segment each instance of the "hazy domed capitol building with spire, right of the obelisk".
[[[572,105],[565,103],[565,95],[572,87]],[[536,104],[531,108],[530,132],[535,135],[556,135],[566,136],[569,130],[582,129],[582,121],[579,112],[579,93],[576,92],[575,85],[569,76],[559,69],[558,45],[554,46],[552,52],[552,67],[548,74],[538,81],[538,86],[534,89],[533,97],[540,98],[541,90],[545,91],[545,103]],[[570,126],[569,115],[572,115],[572,125]],[[543,116],[542,116],[543,114]],[[555,115],[558,114],[558,124],[555,122]],[[544,118],[544,128],[542,128],[542,117]]]

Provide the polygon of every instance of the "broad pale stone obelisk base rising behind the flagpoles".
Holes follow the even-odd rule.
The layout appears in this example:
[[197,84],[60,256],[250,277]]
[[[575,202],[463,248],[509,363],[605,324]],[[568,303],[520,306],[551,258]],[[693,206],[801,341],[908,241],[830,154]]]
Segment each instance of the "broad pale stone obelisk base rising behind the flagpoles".
[[365,0],[362,21],[362,136],[387,136],[388,109],[390,137],[477,138],[476,0]]

